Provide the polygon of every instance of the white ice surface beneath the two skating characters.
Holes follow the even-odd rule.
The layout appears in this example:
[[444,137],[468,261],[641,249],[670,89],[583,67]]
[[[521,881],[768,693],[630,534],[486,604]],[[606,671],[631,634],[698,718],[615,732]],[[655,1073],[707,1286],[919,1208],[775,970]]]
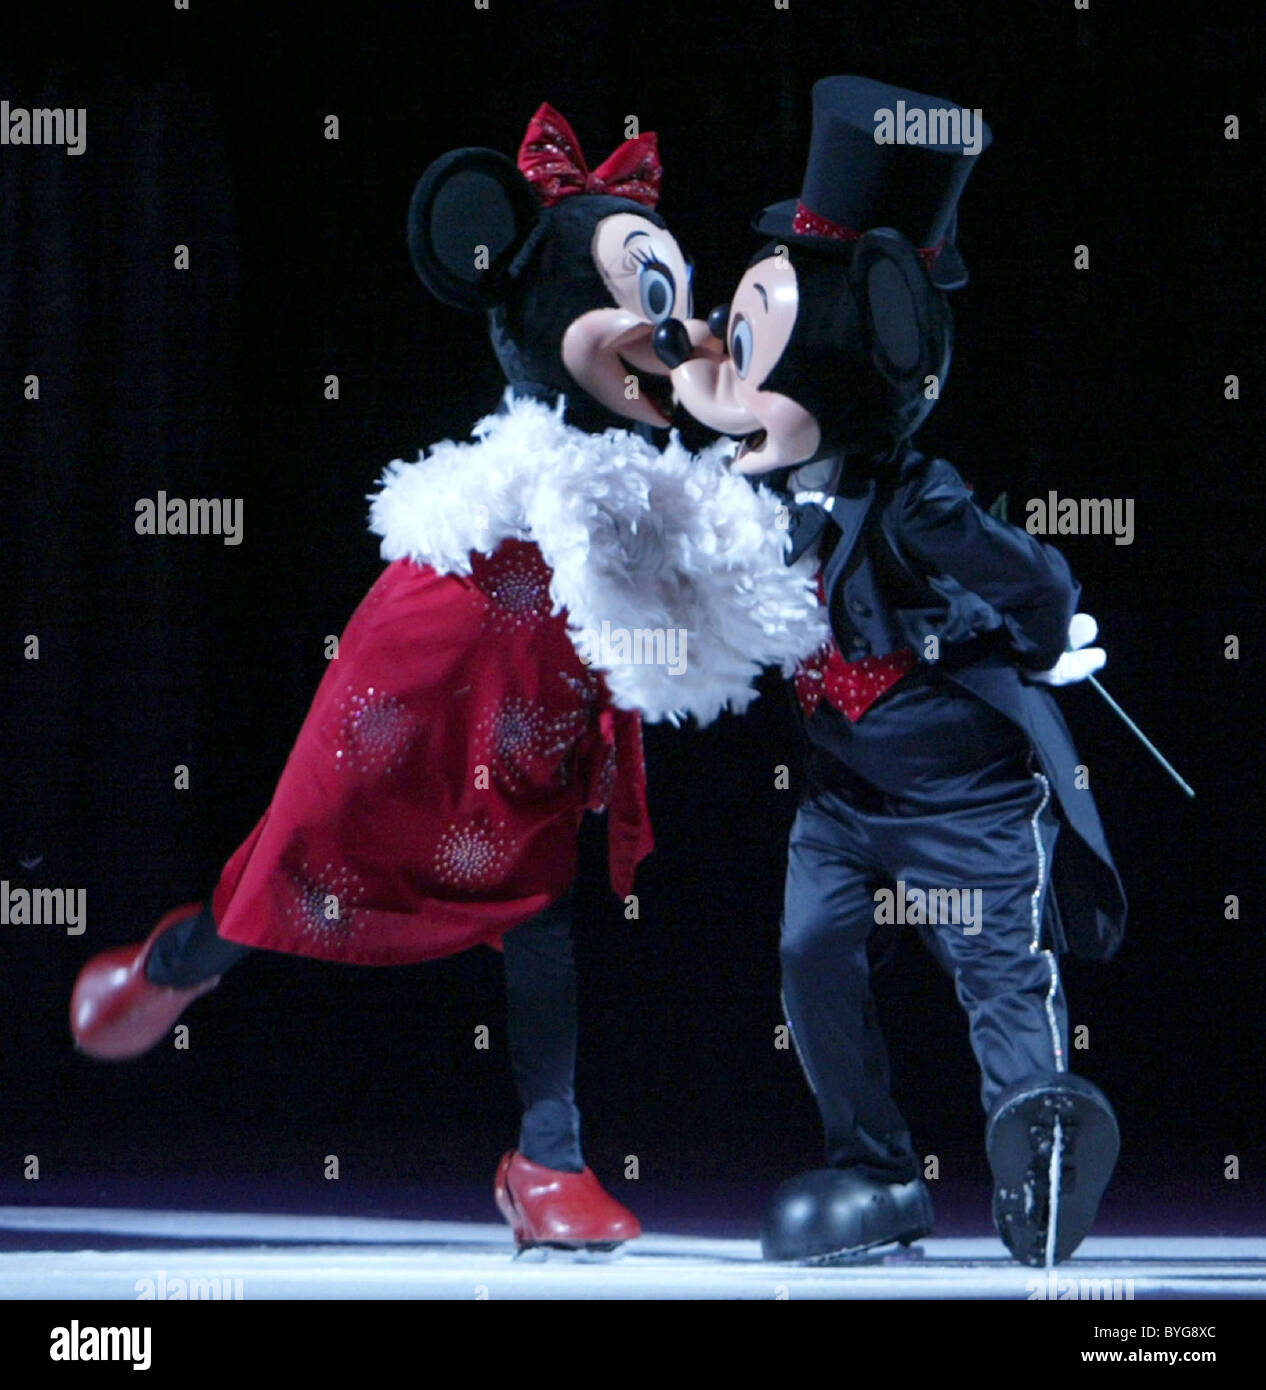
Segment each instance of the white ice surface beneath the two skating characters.
[[1266,1297],[1266,1237],[1092,1236],[1053,1282],[989,1238],[814,1269],[767,1265],[753,1240],[652,1233],[614,1255],[514,1258],[504,1226],[472,1222],[68,1207],[0,1208],[0,1238],[24,1247],[0,1250],[7,1300],[135,1300],[145,1280],[168,1298],[178,1280],[229,1294],[242,1280],[249,1300],[1110,1297],[1102,1280],[1133,1280],[1135,1298]]

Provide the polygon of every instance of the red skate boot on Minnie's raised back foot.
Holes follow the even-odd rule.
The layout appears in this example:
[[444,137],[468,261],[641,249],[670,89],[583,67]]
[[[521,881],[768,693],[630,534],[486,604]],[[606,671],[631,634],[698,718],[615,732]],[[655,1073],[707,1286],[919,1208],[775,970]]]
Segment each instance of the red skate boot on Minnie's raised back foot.
[[158,937],[200,910],[199,902],[172,908],[140,945],[103,951],[83,966],[71,992],[71,1036],[81,1052],[104,1062],[140,1056],[171,1031],[199,995],[220,984],[218,974],[188,990],[153,984],[145,977]]

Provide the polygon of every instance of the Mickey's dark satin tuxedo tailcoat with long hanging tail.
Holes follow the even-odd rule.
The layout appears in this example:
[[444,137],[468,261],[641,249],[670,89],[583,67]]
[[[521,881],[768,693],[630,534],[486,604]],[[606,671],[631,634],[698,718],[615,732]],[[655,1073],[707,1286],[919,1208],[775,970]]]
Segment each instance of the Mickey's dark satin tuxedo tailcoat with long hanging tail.
[[1077,785],[1080,760],[1055,696],[1023,678],[1052,667],[1067,642],[1080,587],[1063,556],[991,517],[952,464],[913,448],[875,477],[845,478],[834,525],[817,509],[792,505],[791,517],[792,557],[821,537],[846,660],[913,648],[1028,737],[1071,831],[1052,866],[1055,940],[1109,959],[1126,926],[1121,881],[1094,796]]

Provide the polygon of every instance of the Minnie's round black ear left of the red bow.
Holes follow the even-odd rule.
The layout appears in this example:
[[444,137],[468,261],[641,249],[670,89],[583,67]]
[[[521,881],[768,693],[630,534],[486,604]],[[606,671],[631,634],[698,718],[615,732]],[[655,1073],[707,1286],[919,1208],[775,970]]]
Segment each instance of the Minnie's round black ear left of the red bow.
[[496,150],[442,154],[409,204],[409,254],[436,299],[492,309],[507,271],[541,217],[541,203],[513,160]]

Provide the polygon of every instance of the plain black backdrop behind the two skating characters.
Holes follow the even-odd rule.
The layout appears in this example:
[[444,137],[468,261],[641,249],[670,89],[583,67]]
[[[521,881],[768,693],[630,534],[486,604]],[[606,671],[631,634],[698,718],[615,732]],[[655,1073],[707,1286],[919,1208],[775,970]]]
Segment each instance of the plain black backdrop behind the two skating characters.
[[[90,952],[207,891],[267,805],[324,638],[378,573],[364,498],[381,467],[498,399],[482,324],[409,265],[425,164],[459,145],[513,153],[542,100],[596,164],[635,114],[660,135],[661,211],[706,310],[755,247],[750,214],[798,189],[812,82],[862,72],[981,107],[995,132],[963,204],[955,367],[921,443],[984,500],[1006,489],[1013,517],[1051,488],[1135,499],[1131,546],[1060,543],[1101,621],[1105,684],[1198,791],[1187,802],[1092,692],[1060,696],[1131,897],[1119,959],[1066,969],[1071,1022],[1090,1026],[1074,1065],[1124,1136],[1105,1222],[1252,1220],[1260,43],[1248,4],[1123,8],[156,0],[6,17],[0,96],[88,108],[82,157],[0,147],[0,877],[86,888],[89,913],[79,938],[0,929],[10,1200],[254,1190],[438,1215],[470,1186],[491,1215],[516,1130],[492,952],[396,970],[257,958],[190,1013],[188,1052],[118,1066],[74,1054],[69,987]],[[22,399],[28,373],[39,402]],[[136,500],[160,488],[242,498],[245,542],[136,535]],[[648,756],[659,849],[641,922],[606,890],[600,826],[585,837],[586,1152],[643,1220],[750,1227],[774,1180],[819,1161],[812,1099],[773,1045],[795,795],[774,769],[796,759],[784,692],[770,681],[752,714],[702,733],[650,730]],[[983,1229],[964,1020],[913,934],[892,947],[878,990],[898,1095],[952,1219]]]

